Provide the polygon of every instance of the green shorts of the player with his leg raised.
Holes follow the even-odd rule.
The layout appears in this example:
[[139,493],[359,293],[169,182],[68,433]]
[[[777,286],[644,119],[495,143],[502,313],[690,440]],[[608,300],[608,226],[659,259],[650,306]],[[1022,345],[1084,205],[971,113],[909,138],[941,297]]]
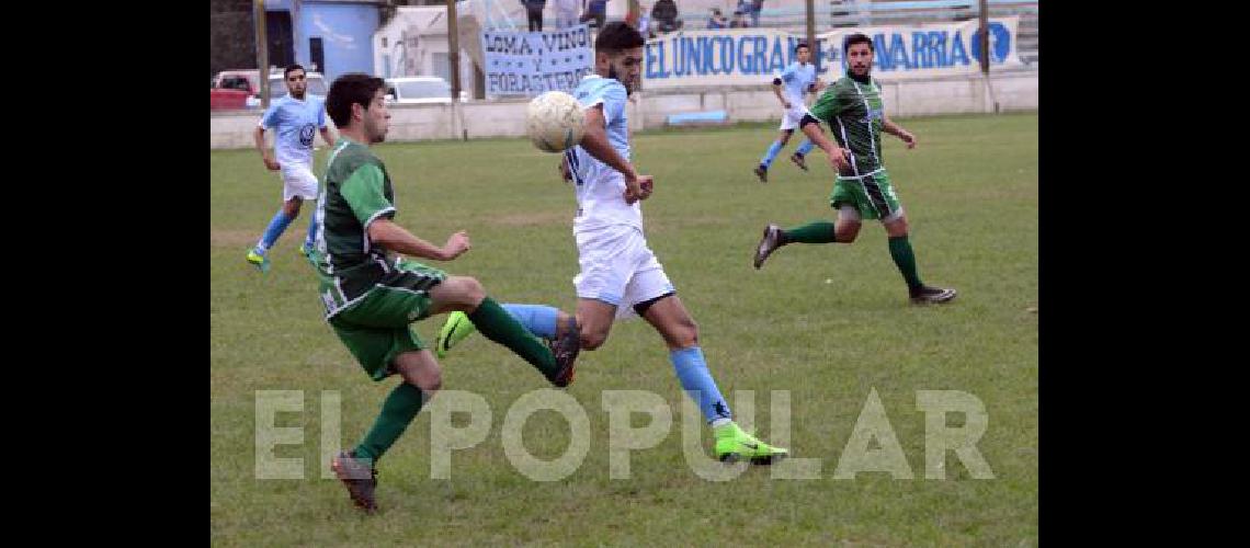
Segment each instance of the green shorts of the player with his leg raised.
[[446,272],[401,260],[356,302],[330,317],[330,327],[342,340],[360,367],[374,381],[395,373],[391,362],[404,352],[425,348],[410,323],[430,316],[430,288]]

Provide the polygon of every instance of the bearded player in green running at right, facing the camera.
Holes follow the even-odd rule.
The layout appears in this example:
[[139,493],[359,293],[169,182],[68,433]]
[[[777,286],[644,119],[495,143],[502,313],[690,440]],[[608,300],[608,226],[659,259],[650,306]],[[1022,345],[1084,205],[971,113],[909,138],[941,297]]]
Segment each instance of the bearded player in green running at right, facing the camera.
[[[871,77],[872,40],[854,34],[842,42],[848,72],[834,82],[811,106],[800,127],[825,154],[838,172],[830,207],[839,211],[838,225],[818,221],[781,230],[769,223],[755,248],[755,267],[788,243],[851,243],[859,236],[861,218],[876,218],[885,226],[890,256],[908,282],[915,303],[949,302],[955,290],[930,287],[916,273],[916,257],[908,241],[908,216],[891,186],[890,174],[881,160],[881,134],[890,134],[916,146],[916,137],[885,115],[881,86]],[[820,130],[829,124],[835,145]]]

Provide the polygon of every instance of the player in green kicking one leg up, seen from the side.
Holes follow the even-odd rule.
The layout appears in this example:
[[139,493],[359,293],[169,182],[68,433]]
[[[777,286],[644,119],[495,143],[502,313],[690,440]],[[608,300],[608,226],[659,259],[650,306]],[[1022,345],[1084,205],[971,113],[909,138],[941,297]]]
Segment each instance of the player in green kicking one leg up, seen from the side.
[[365,511],[378,508],[375,462],[442,386],[439,362],[409,323],[464,312],[486,338],[525,358],[559,387],[572,381],[580,350],[575,326],[549,348],[486,296],[476,280],[448,276],[396,255],[451,261],[469,251],[470,242],[465,232],[456,232],[440,247],[394,222],[390,176],[369,150],[386,137],[390,114],[384,94],[382,79],[364,74],[342,75],[330,86],[326,111],[340,139],[326,162],[316,210],[320,228],[309,253],[334,332],[370,378],[399,373],[404,379],[360,444],[331,462],[352,502]]

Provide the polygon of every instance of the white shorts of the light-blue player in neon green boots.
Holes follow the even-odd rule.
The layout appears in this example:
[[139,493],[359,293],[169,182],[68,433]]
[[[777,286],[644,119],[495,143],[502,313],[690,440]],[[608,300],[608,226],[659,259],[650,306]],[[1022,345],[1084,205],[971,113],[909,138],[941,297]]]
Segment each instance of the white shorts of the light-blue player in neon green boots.
[[581,266],[572,278],[578,298],[615,305],[616,317],[624,320],[638,316],[634,305],[674,291],[664,266],[636,228],[608,227],[574,236]]

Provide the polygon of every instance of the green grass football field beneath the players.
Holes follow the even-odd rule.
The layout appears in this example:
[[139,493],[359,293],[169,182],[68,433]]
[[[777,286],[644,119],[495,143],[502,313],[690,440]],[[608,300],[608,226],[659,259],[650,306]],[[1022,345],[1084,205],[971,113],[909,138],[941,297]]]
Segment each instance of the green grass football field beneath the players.
[[[532,482],[504,452],[509,407],[546,383],[481,337],[444,361],[444,387],[485,397],[486,439],[451,457],[451,479],[430,478],[430,417],[422,412],[380,462],[379,504],[360,516],[321,478],[321,393],[341,396],[341,443],[372,423],[395,381],[372,383],[321,320],[315,277],[296,248],[306,210],[260,276],[244,262],[279,205],[280,182],[255,151],[212,151],[210,397],[214,544],[851,544],[1034,546],[1038,542],[1038,116],[901,120],[919,137],[888,139],[886,165],[912,226],[920,275],[951,286],[942,307],[908,305],[884,231],[865,223],[852,246],[790,246],[761,271],[751,252],[761,227],[831,218],[830,169],[785,157],[760,185],[751,167],[775,125],[635,136],[634,160],[656,177],[644,203],[646,235],[700,326],[702,347],[731,406],[755,391],[754,424],[770,431],[770,391],[789,391],[789,448],[819,458],[816,479],[775,479],[766,468],[709,482],[681,451],[679,391],[662,342],[644,322],[619,323],[582,353],[568,393],[590,418],[590,451],[559,482]],[[441,243],[469,231],[474,248],[450,263],[501,302],[572,310],[578,258],[572,191],[555,159],[520,139],[386,144],[376,149],[395,183],[398,222]],[[325,150],[318,152],[318,172]],[[432,343],[442,317],[416,325]],[[834,478],[875,388],[912,479],[864,472]],[[308,479],[256,479],[256,391],[304,391]],[[630,479],[609,477],[601,392],[642,389],[674,409],[671,433],[636,451]],[[962,391],[985,404],[978,449],[992,479],[974,479],[949,452],[945,479],[925,478],[925,413],[918,391]],[[741,413],[740,413],[741,414]],[[951,426],[962,419],[951,414]],[[635,426],[644,424],[639,418]],[[569,444],[554,412],[526,423],[525,447],[555,458]],[[702,431],[710,451],[710,432]],[[875,446],[874,446],[875,447]]]

